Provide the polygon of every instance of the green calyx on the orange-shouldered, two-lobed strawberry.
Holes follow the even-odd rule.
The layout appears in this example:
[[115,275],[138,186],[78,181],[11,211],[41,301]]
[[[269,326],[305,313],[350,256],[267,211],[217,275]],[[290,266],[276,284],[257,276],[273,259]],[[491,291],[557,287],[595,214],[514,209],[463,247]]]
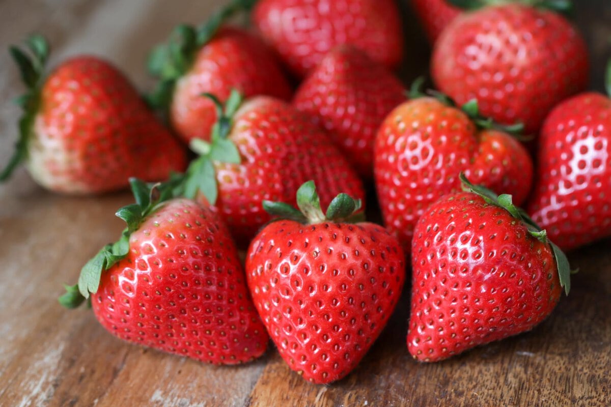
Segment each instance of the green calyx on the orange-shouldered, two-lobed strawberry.
[[426,90],[426,92],[423,91],[424,82],[425,79],[422,76],[418,77],[414,81],[408,93],[409,99],[430,98],[432,96],[441,103],[445,104],[445,106],[456,107],[457,109],[459,108],[462,110],[463,113],[465,113],[467,117],[469,117],[469,119],[475,123],[475,126],[477,126],[478,129],[494,129],[502,131],[512,135],[514,139],[522,142],[527,142],[533,139],[532,136],[522,134],[524,131],[524,124],[522,123],[506,125],[496,123],[496,121],[492,120],[490,117],[483,117],[480,114],[480,107],[478,106],[477,99],[471,99],[467,103],[463,104],[463,106],[458,107],[458,104],[456,104],[456,102],[450,98],[450,96],[445,95],[445,93],[433,89]]

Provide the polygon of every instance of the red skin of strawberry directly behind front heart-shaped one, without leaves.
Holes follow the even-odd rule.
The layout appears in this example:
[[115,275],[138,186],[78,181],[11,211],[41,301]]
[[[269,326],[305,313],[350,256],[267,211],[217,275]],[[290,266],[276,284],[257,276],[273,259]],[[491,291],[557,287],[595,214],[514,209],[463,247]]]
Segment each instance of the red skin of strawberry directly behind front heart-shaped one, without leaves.
[[269,221],[263,200],[295,204],[296,191],[311,179],[323,207],[340,192],[364,200],[362,182],[343,154],[290,104],[258,96],[240,107],[233,123],[228,138],[241,164],[214,163],[215,206],[238,242],[249,242]]

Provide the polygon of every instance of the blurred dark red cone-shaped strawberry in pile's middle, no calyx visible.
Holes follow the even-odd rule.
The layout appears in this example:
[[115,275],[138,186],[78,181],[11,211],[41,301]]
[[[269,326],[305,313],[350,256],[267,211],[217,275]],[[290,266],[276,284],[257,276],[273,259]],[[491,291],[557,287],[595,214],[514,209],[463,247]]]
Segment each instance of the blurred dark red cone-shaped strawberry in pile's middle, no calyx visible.
[[382,120],[405,100],[403,84],[352,46],[329,52],[301,84],[293,105],[309,113],[351,161],[371,178],[373,144]]

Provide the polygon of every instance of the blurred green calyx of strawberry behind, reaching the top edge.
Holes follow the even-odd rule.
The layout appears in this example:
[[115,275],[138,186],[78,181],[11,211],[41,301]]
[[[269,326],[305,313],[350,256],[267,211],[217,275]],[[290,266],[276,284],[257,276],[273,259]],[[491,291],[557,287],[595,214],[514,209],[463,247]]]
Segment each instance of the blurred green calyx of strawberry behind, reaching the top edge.
[[214,13],[200,27],[181,24],[175,27],[167,43],[153,48],[148,56],[148,72],[158,79],[153,92],[146,95],[149,106],[167,110],[174,93],[174,85],[193,64],[197,51],[206,45],[225,21],[254,6],[256,0],[232,0]]

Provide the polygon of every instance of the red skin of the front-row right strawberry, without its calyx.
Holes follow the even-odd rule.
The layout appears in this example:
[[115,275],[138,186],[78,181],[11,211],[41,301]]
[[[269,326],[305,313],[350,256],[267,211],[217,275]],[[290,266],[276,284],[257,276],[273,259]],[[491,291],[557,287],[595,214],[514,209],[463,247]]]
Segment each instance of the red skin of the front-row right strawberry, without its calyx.
[[546,243],[478,195],[444,196],[414,231],[409,353],[440,361],[529,331],[560,294]]

